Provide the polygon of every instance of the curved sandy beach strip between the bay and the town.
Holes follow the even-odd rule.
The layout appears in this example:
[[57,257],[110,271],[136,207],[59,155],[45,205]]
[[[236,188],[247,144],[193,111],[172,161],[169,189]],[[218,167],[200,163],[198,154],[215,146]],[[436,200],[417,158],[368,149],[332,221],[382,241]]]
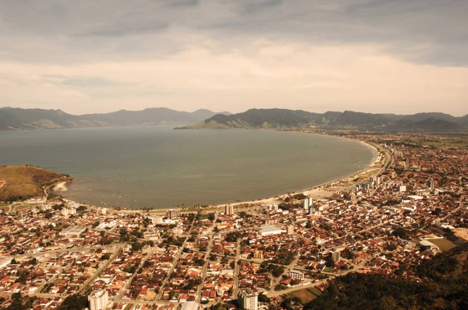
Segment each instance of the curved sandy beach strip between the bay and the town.
[[[304,132],[304,133],[306,133],[306,132]],[[317,134],[317,133],[315,133],[315,134]],[[332,136],[332,135],[330,135],[330,136]],[[327,187],[330,187],[332,185],[339,185],[339,183],[344,183],[349,179],[355,179],[356,177],[358,177],[361,174],[368,173],[368,172],[370,172],[372,170],[376,170],[376,169],[381,168],[381,167],[375,167],[375,164],[377,163],[377,159],[379,158],[380,151],[374,145],[369,144],[369,143],[367,143],[365,141],[362,141],[362,140],[350,139],[350,138],[339,137],[339,136],[333,136],[333,137],[342,138],[342,139],[346,139],[346,140],[352,140],[352,141],[356,141],[356,142],[359,142],[359,143],[365,145],[366,147],[371,149],[371,151],[373,152],[372,160],[363,169],[361,169],[359,171],[356,171],[356,172],[353,172],[352,174],[343,175],[343,176],[340,176],[340,177],[338,177],[336,179],[333,179],[331,181],[323,182],[323,183],[314,185],[312,187],[307,187],[307,188],[302,189],[302,190],[296,190],[296,191],[293,191],[293,192],[290,192],[290,193],[278,194],[278,195],[267,197],[265,199],[249,200],[249,201],[241,201],[241,202],[233,202],[233,203],[221,203],[221,204],[215,204],[215,205],[212,205],[212,206],[208,206],[207,208],[196,209],[196,210],[195,209],[191,210],[190,208],[163,208],[163,209],[152,209],[149,212],[153,213],[153,214],[154,213],[156,213],[156,214],[157,213],[165,213],[168,210],[177,210],[179,212],[184,212],[184,211],[185,212],[194,212],[194,211],[198,211],[198,210],[200,210],[200,211],[217,210],[217,209],[223,208],[223,207],[228,206],[228,205],[235,207],[235,206],[239,206],[239,205],[255,205],[255,204],[275,203],[281,197],[288,196],[288,195],[296,195],[298,193],[304,193],[305,195],[312,195],[312,196],[316,197],[315,199],[317,199],[317,198],[320,199],[320,198],[324,198],[326,196],[330,196],[329,195],[330,192],[326,190]],[[67,182],[61,182],[61,183],[57,184],[55,187],[65,188],[65,190],[58,190],[58,191],[66,191],[67,190],[67,188],[65,186],[66,183]],[[54,191],[55,191],[55,187],[54,187]],[[67,200],[67,201],[76,202],[73,199],[69,199],[67,197],[63,197],[63,198],[65,200]],[[76,202],[76,203],[78,203],[78,202]],[[119,212],[140,212],[140,211],[144,210],[143,208],[141,208],[141,209],[121,208],[120,210],[116,210],[114,208],[107,207],[107,206],[97,206],[97,205],[91,205],[91,204],[81,204],[81,205],[85,205],[85,206],[88,206],[88,207],[91,207],[91,208],[106,208],[106,209],[109,209],[109,210],[119,211]]]

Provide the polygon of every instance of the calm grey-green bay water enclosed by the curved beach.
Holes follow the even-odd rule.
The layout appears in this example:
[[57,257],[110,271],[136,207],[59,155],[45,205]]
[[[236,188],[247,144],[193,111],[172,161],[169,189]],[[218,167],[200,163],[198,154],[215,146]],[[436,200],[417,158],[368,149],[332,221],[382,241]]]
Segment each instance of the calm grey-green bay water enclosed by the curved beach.
[[169,208],[262,199],[365,168],[357,141],[268,130],[165,126],[0,132],[0,163],[73,176],[62,195],[79,202]]

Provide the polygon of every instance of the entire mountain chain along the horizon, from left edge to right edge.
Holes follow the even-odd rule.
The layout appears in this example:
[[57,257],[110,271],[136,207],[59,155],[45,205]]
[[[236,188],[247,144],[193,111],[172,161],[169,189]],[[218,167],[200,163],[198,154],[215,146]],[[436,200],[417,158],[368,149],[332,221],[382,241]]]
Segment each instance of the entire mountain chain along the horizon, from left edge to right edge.
[[[193,124],[193,125],[190,125]],[[73,115],[62,110],[0,108],[0,130],[42,130],[130,125],[173,125],[178,129],[355,129],[404,132],[468,131],[468,114],[463,117],[438,112],[411,115],[372,114],[353,111],[314,113],[290,109],[249,109],[245,112],[194,112],[169,108],[141,111],[119,110],[110,113]]]

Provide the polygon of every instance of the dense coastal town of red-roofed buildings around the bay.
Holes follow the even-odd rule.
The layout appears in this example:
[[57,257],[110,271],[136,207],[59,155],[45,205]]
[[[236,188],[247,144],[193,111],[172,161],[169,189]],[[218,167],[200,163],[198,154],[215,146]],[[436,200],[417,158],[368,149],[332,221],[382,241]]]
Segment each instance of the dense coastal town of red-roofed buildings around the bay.
[[127,210],[55,195],[5,204],[0,308],[299,309],[349,273],[420,281],[422,261],[468,242],[466,147],[434,134],[302,131],[362,141],[375,162],[215,207]]

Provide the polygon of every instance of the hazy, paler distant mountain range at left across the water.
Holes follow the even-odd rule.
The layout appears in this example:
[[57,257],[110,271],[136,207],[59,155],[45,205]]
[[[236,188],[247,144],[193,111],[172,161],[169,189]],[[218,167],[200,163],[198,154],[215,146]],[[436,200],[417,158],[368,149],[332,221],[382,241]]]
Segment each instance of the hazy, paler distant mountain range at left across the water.
[[213,115],[230,114],[199,109],[176,111],[164,107],[141,111],[120,110],[111,113],[73,115],[62,110],[0,108],[0,130],[40,130],[128,125],[184,125],[200,122]]

